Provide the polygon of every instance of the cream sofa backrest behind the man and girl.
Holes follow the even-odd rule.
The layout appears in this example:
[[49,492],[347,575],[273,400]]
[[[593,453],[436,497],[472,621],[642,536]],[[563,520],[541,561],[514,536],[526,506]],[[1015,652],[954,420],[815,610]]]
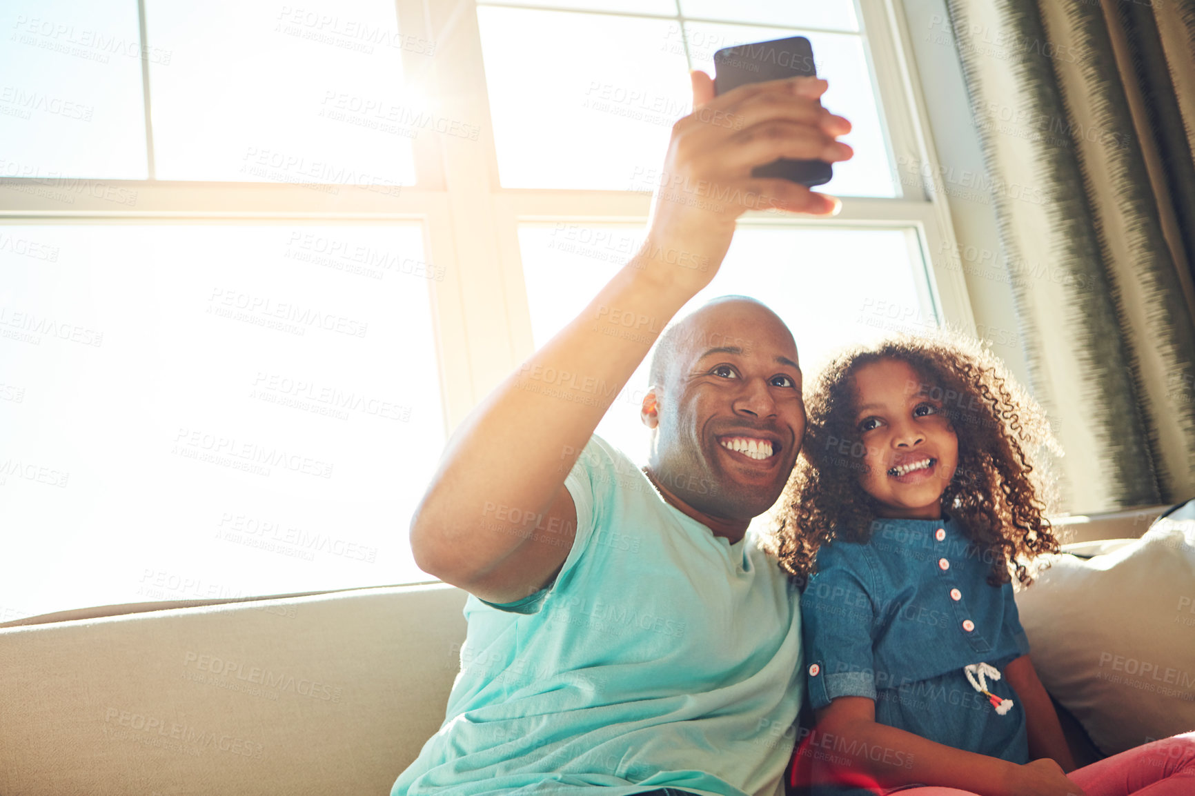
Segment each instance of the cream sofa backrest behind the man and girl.
[[[1065,540],[1136,538],[1159,510],[1064,521]],[[465,596],[380,587],[8,623],[0,795],[388,794],[443,720]]]

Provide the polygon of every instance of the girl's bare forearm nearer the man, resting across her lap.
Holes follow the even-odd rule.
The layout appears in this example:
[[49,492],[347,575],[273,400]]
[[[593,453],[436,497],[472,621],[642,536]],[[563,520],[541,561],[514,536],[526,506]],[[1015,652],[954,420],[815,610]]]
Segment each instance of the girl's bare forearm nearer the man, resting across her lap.
[[[816,720],[807,740],[819,761],[814,792],[823,782],[821,772],[829,773],[832,780],[858,778],[862,773],[884,788],[921,783],[980,796],[1083,796],[1083,790],[1050,760],[1022,766],[878,724],[876,703],[866,697],[839,697],[816,711]],[[821,763],[835,758],[847,761]]]

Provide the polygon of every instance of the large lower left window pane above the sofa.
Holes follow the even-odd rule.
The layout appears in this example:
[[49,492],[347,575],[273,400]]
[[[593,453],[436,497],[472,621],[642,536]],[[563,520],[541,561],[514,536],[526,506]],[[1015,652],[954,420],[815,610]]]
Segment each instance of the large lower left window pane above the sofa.
[[418,225],[4,234],[53,257],[0,255],[24,601],[424,578],[393,543],[445,441]]

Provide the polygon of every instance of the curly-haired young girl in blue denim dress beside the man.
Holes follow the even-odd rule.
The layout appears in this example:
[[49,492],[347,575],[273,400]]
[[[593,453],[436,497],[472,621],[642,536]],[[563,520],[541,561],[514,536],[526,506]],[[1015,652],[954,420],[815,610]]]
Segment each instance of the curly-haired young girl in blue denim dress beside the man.
[[1030,584],[1027,562],[1059,549],[1032,463],[1035,448],[1056,445],[999,361],[942,339],[854,348],[820,375],[807,410],[772,540],[804,583],[816,717],[790,784],[1195,794],[1195,734],[1076,770],[1011,584],[1011,575]]

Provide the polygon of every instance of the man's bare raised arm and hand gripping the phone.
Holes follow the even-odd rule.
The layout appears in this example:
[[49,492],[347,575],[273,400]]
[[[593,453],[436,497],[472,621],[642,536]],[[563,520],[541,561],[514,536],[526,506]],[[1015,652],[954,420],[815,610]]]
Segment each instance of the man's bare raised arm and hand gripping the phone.
[[[750,176],[777,158],[851,157],[835,141],[850,123],[821,108],[825,90],[823,80],[792,78],[715,97],[710,78],[693,73],[694,111],[673,125],[643,247],[449,440],[411,520],[411,549],[424,571],[483,600],[510,602],[559,570],[576,527],[564,479],[607,409],[583,387],[617,394],[655,339],[603,332],[621,330],[629,317],[637,331],[661,330],[713,278],[743,212],[836,212],[835,200],[803,185]],[[570,378],[541,379],[560,373]],[[560,534],[566,544],[544,544],[537,526],[569,529]]]

